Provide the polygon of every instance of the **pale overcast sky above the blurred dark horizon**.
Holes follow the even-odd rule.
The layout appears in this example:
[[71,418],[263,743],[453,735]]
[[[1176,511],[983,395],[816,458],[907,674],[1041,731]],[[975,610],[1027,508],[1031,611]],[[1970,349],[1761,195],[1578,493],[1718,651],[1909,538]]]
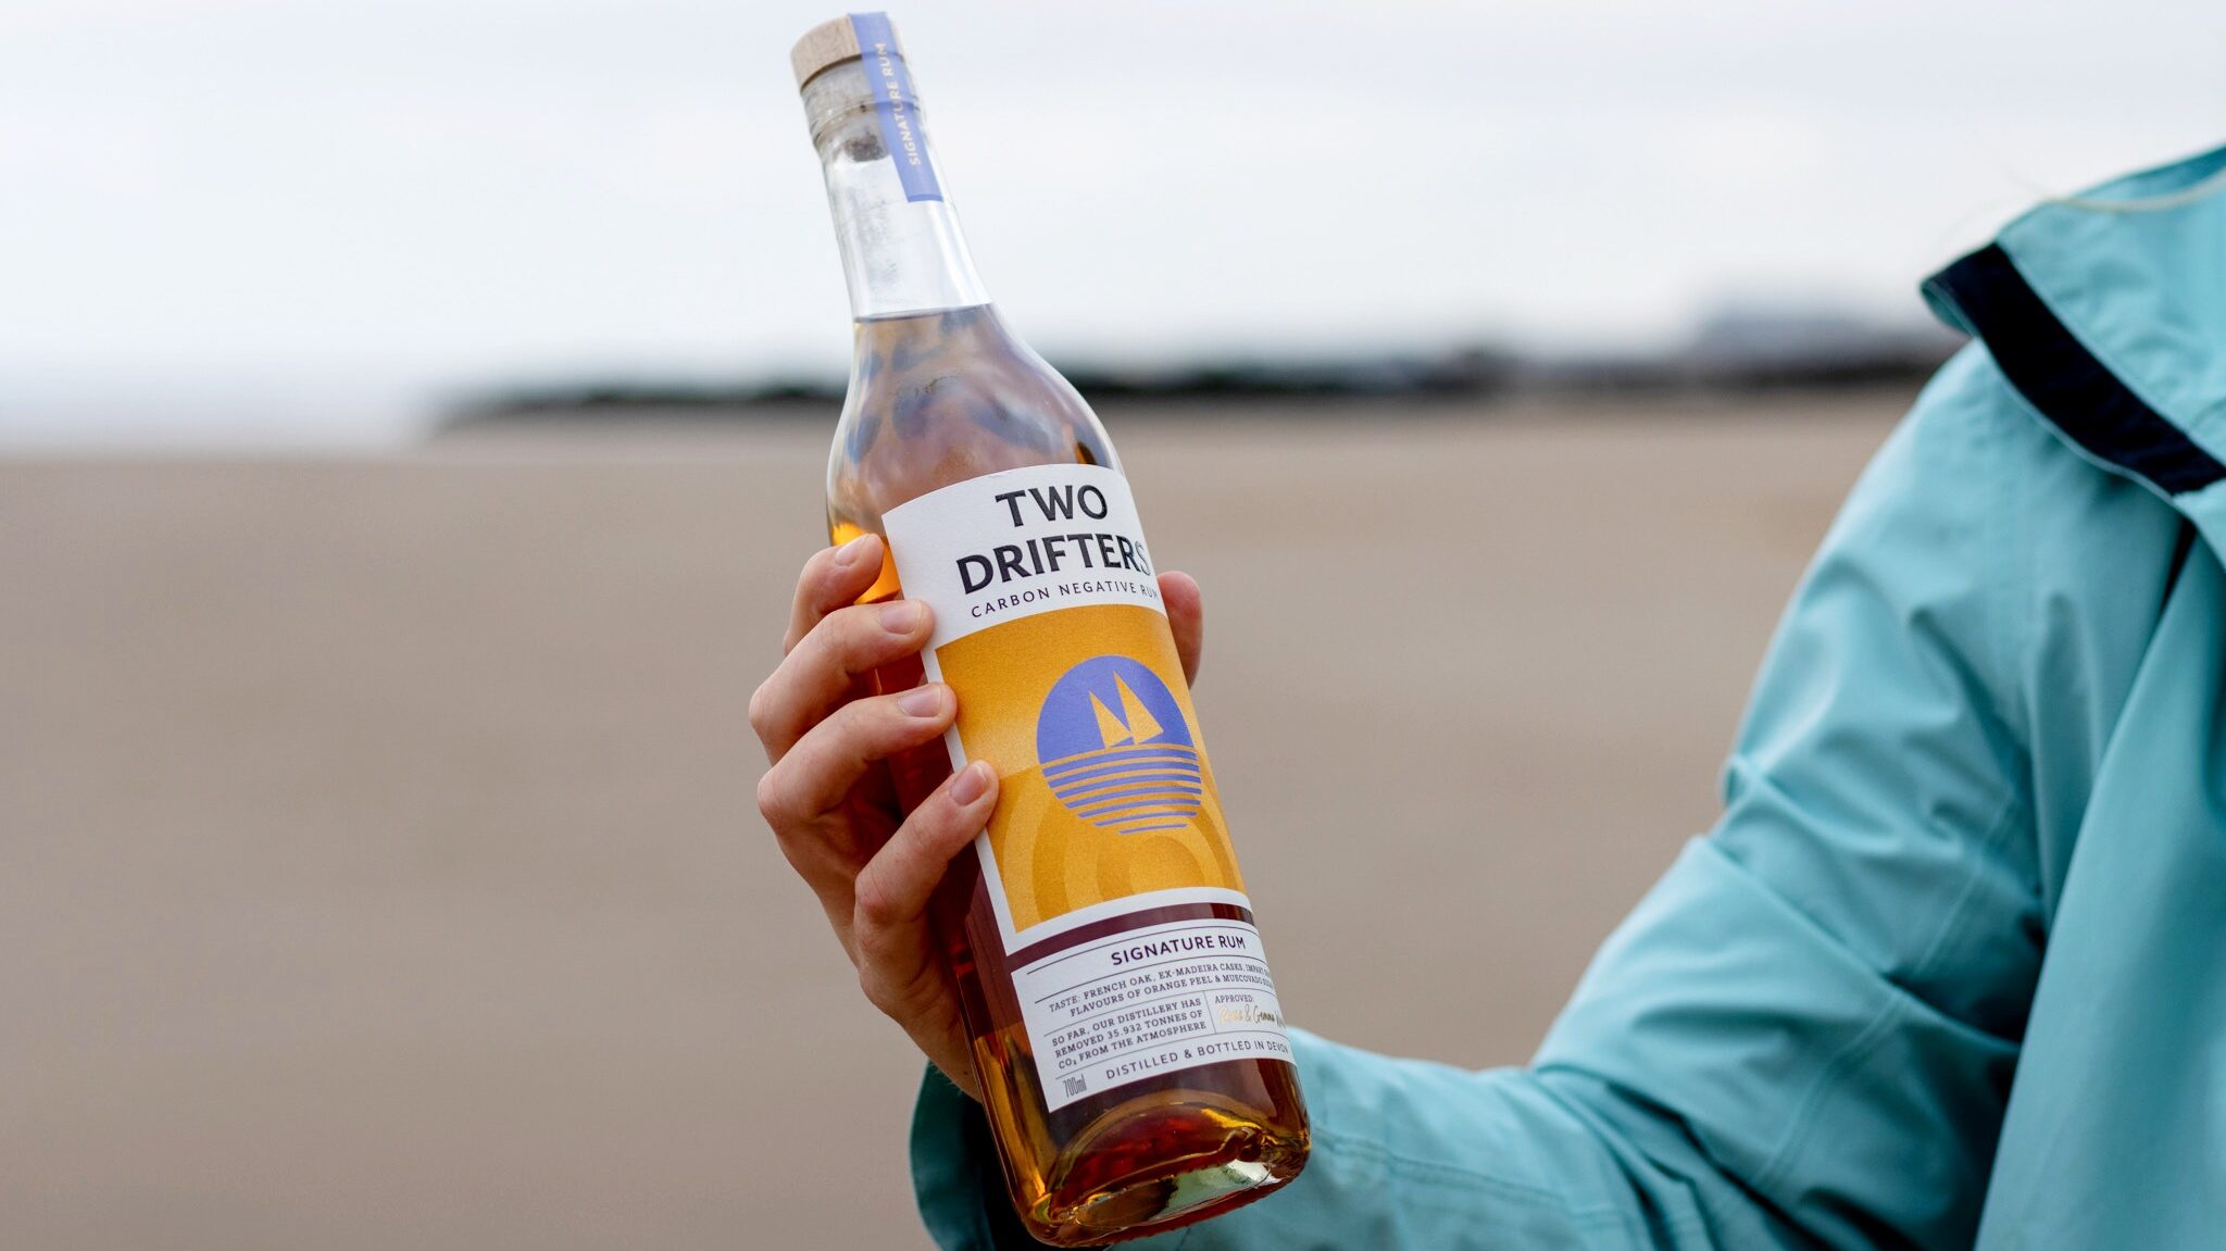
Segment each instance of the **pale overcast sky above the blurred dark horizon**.
[[[392,439],[505,381],[837,370],[790,0],[0,0],[0,443]],[[1636,345],[1919,316],[2226,140],[2226,4],[893,9],[1037,347]]]

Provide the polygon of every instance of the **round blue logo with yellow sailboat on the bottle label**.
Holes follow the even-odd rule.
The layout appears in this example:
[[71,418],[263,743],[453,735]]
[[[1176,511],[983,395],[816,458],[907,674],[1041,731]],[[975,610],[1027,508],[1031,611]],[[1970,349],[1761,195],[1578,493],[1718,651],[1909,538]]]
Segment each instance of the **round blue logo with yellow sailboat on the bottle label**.
[[1035,759],[1068,812],[1113,833],[1180,830],[1204,801],[1182,706],[1129,657],[1091,657],[1051,686],[1035,717]]

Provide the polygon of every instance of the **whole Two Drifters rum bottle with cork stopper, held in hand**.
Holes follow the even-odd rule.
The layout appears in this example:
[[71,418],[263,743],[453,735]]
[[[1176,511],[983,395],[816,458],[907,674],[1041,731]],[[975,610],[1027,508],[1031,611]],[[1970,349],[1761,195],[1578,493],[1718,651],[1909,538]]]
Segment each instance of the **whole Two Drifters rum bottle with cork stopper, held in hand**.
[[899,801],[1002,777],[935,924],[1013,1206],[1055,1244],[1238,1206],[1298,1175],[1307,1109],[1120,456],[991,307],[888,18],[792,60],[857,334],[828,528],[886,536],[868,601],[935,608],[877,683],[959,701]]

